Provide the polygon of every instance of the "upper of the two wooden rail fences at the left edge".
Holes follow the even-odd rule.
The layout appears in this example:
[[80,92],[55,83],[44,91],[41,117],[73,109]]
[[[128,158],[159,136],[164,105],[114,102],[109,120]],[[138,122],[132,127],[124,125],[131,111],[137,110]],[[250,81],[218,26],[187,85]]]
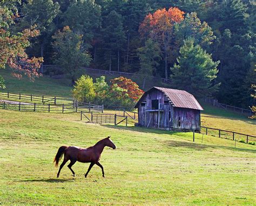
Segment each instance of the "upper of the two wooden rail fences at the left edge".
[[37,95],[25,95],[21,93],[0,93],[0,99],[3,100],[13,100],[22,102],[36,102],[42,104],[71,104],[73,103],[73,98],[66,97],[49,97],[49,96],[37,96]]

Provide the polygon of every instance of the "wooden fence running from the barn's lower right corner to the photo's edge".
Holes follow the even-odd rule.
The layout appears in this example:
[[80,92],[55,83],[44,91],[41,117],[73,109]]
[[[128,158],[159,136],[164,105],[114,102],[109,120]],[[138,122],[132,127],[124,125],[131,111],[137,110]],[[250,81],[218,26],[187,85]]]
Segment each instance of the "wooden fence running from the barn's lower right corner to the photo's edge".
[[219,137],[219,138],[226,138],[226,139],[238,140],[238,141],[244,138],[246,143],[249,143],[250,141],[256,141],[256,137],[250,134],[242,134],[238,132],[220,130],[220,129],[205,127],[205,126],[201,126],[201,133]]

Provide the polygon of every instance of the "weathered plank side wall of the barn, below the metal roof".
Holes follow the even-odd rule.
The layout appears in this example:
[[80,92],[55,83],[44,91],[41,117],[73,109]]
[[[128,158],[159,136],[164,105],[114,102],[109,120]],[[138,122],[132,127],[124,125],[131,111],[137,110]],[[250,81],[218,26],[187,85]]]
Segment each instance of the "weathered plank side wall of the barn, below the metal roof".
[[200,110],[173,107],[172,125],[179,129],[200,130]]

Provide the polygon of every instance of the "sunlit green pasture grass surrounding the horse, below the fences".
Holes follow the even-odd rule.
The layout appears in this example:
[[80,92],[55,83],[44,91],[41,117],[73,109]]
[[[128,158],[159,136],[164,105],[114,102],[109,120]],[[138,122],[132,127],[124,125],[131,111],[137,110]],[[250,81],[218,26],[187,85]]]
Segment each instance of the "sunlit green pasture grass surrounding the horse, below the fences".
[[[113,127],[74,113],[0,110],[0,203],[255,205],[255,146],[192,133]],[[111,135],[100,168],[52,164],[58,147],[87,147]]]

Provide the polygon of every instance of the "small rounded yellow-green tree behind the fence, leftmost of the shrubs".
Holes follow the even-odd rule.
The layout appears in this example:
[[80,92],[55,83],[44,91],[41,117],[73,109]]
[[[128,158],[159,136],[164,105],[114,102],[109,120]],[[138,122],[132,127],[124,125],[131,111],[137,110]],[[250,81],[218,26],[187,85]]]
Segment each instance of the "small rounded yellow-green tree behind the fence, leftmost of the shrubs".
[[95,88],[90,76],[82,75],[72,90],[73,97],[79,102],[92,102],[95,99]]

